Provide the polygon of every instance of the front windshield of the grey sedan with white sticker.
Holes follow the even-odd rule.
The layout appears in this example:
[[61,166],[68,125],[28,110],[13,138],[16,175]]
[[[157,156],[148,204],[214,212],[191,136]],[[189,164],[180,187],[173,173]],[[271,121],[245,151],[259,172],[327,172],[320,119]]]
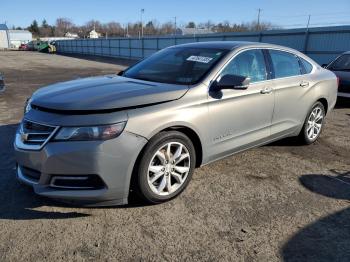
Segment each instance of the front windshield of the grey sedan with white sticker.
[[228,53],[216,48],[164,49],[130,67],[123,76],[169,84],[198,83]]

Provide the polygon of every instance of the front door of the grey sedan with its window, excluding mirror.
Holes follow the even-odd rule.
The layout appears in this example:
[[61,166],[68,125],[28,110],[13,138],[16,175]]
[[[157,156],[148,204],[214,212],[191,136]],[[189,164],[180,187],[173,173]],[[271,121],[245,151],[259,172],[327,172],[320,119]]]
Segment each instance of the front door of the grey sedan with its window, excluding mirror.
[[274,92],[262,50],[236,55],[221,71],[249,77],[245,90],[209,91],[211,160],[258,145],[270,136]]

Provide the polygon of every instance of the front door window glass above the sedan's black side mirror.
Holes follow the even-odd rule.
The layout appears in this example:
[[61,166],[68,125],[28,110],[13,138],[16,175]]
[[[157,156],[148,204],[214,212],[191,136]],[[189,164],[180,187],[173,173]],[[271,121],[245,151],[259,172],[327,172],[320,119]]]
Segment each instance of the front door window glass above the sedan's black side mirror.
[[261,50],[248,50],[237,55],[221,72],[221,76],[239,75],[250,78],[250,82],[259,82],[267,79],[264,54]]

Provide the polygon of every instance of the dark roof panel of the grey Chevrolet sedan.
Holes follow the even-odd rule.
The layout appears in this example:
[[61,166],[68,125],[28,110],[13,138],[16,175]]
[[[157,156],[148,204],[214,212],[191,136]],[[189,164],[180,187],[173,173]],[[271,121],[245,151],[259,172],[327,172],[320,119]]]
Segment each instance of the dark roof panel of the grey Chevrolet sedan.
[[173,47],[184,47],[184,48],[217,48],[217,49],[227,49],[233,50],[239,47],[248,46],[271,46],[277,47],[276,45],[260,43],[260,42],[246,42],[246,41],[209,41],[209,42],[194,42],[188,44],[180,44]]

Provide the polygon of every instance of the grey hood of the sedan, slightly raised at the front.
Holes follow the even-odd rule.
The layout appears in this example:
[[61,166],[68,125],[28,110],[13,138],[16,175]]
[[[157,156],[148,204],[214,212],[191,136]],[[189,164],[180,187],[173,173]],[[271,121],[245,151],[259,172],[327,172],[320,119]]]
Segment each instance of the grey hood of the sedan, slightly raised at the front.
[[176,100],[188,88],[117,75],[89,77],[43,87],[33,94],[31,105],[54,111],[118,111]]

